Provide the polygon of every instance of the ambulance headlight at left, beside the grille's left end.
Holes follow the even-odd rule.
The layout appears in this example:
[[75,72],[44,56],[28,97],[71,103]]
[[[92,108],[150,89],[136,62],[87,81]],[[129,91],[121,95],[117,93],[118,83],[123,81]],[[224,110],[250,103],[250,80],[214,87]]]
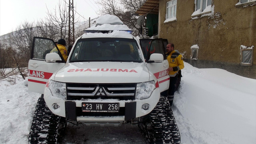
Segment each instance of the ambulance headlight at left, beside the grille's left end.
[[46,87],[52,92],[52,96],[66,100],[66,84],[50,80],[47,82]]

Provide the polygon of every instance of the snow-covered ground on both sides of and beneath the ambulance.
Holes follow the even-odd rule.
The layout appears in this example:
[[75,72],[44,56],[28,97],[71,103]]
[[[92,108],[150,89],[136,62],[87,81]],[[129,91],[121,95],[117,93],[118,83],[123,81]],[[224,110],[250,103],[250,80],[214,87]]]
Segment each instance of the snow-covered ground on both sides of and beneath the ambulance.
[[[256,80],[184,63],[172,106],[182,144],[256,144]],[[14,78],[14,77],[13,77]],[[27,80],[0,81],[0,143],[27,144],[40,94]],[[68,124],[64,144],[143,144],[136,125],[98,128]]]

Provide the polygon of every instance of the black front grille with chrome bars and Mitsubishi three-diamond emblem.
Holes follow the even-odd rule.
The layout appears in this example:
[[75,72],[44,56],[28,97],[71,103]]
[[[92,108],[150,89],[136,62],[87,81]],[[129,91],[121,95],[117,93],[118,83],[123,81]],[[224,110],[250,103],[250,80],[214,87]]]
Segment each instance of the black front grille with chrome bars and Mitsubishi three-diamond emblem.
[[67,100],[135,100],[136,84],[66,84]]

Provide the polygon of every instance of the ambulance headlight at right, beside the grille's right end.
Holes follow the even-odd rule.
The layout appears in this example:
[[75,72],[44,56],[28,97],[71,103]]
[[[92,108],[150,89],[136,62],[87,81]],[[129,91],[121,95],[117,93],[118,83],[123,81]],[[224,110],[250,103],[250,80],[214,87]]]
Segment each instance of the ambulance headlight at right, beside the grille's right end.
[[152,80],[150,82],[142,82],[137,84],[136,88],[136,99],[145,99],[149,98],[153,90],[156,88],[155,81]]

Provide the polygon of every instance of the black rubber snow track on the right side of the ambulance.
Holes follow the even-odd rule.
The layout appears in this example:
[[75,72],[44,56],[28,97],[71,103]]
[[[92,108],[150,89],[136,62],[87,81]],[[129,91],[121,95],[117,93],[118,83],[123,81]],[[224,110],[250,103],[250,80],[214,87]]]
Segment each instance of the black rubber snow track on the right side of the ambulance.
[[169,101],[164,96],[138,126],[148,144],[180,144],[178,126]]

